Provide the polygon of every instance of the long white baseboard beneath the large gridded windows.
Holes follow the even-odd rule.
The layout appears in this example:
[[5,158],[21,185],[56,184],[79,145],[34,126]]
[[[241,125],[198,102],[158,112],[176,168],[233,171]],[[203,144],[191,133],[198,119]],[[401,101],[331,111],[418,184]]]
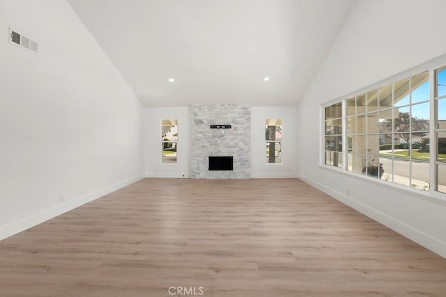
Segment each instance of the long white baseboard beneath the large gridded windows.
[[396,220],[391,216],[387,216],[386,214],[383,214],[381,211],[372,209],[366,204],[358,202],[357,200],[348,197],[347,195],[334,191],[332,188],[328,188],[327,186],[319,182],[316,182],[313,179],[309,179],[302,175],[300,175],[299,178],[302,179],[303,182],[306,182],[307,184],[314,186],[318,190],[327,193],[336,200],[339,200],[340,202],[348,205],[349,207],[357,211],[360,211],[360,213],[368,216],[369,218],[373,218],[378,223],[381,223],[386,227],[389,227],[390,229],[394,230],[395,232],[398,232],[399,234],[406,236],[408,239],[415,241],[416,243],[420,244],[420,246],[424,246],[424,248],[427,248],[428,250],[435,252],[441,257],[446,258],[445,242],[440,241],[439,239],[436,239],[433,236],[430,236],[429,234],[426,234],[420,230],[417,230],[414,227],[411,227],[410,225],[401,222],[400,220]]

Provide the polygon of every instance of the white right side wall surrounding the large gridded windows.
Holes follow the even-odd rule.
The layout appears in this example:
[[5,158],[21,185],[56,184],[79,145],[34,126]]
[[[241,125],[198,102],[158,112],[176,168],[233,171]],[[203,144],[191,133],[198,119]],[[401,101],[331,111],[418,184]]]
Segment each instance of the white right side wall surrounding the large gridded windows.
[[308,143],[299,147],[302,179],[443,257],[444,203],[422,191],[325,169],[318,163],[321,104],[445,54],[445,11],[446,1],[441,0],[358,1],[298,106],[298,127],[305,129],[297,134]]

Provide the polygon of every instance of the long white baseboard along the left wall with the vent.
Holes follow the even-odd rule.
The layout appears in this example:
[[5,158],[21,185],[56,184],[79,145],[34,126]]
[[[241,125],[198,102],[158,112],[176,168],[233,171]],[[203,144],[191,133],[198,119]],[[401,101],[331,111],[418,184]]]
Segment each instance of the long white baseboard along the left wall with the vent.
[[29,229],[33,226],[45,222],[45,220],[49,220],[63,213],[66,213],[67,211],[75,209],[76,207],[80,207],[81,205],[91,202],[95,199],[98,199],[103,195],[112,193],[113,191],[116,191],[119,188],[123,188],[124,186],[128,186],[129,184],[133,184],[134,182],[137,182],[142,178],[144,178],[144,176],[139,175],[137,177],[125,179],[123,182],[118,182],[117,184],[113,184],[112,186],[107,186],[106,188],[102,188],[98,191],[88,193],[79,198],[75,198],[63,204],[56,205],[55,207],[52,207],[50,209],[46,209],[45,211],[41,211],[37,214],[33,214],[26,218],[22,218],[21,220],[17,220],[7,225],[1,226],[0,240],[6,239],[7,237],[13,236],[14,234],[20,233],[26,229]]

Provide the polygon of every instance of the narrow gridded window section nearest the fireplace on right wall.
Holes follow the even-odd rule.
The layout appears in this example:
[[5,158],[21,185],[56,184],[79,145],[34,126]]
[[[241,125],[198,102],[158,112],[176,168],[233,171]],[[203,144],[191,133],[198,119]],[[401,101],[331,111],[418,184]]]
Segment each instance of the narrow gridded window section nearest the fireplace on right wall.
[[325,165],[342,168],[342,104],[325,107]]

